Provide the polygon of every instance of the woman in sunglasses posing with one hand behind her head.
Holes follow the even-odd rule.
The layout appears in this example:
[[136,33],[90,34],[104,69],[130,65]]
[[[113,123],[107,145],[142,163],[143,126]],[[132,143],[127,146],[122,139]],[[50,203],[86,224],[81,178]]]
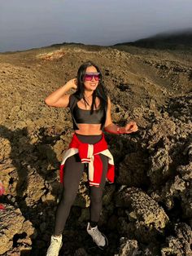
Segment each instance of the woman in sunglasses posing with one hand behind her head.
[[[75,89],[76,92],[66,95],[70,89]],[[106,179],[111,182],[114,180],[114,164],[102,129],[117,135],[129,134],[137,131],[137,125],[134,121],[124,127],[112,123],[111,101],[103,86],[102,73],[98,66],[90,61],[81,65],[76,78],[55,90],[45,101],[52,107],[69,107],[75,130],[61,165],[60,179],[63,183],[63,194],[56,210],[55,232],[51,236],[46,256],[59,255],[63,228],[85,169],[88,169],[90,190],[90,219],[87,232],[96,245],[103,249],[108,241],[98,230],[98,220],[102,210]]]

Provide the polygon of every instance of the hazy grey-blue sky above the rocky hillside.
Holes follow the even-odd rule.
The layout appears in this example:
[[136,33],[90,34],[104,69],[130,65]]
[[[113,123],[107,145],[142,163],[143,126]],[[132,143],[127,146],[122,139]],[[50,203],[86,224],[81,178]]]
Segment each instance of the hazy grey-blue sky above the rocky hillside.
[[192,0],[0,0],[0,51],[113,45],[192,28]]

